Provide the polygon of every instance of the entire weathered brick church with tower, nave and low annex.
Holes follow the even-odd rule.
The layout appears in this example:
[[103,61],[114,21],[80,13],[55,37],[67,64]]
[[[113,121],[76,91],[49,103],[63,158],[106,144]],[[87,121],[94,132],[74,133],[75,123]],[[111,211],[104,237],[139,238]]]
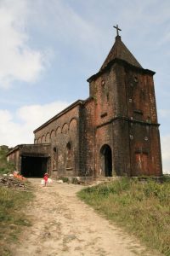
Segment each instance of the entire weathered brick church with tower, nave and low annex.
[[153,76],[116,40],[89,97],[34,131],[34,144],[7,155],[25,177],[161,176],[161,145]]

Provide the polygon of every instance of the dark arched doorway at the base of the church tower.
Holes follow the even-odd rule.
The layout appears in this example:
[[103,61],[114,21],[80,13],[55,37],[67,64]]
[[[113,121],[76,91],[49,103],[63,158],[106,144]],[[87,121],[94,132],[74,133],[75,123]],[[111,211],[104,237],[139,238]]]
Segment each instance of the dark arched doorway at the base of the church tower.
[[105,177],[112,176],[112,154],[111,147],[107,144],[100,149],[101,172]]

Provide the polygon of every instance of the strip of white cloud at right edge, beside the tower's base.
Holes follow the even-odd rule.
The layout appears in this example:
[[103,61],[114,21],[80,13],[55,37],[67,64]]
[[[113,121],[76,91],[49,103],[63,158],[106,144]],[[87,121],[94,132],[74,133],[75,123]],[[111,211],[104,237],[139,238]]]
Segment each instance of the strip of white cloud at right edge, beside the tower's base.
[[161,157],[164,173],[170,173],[170,135],[161,137]]

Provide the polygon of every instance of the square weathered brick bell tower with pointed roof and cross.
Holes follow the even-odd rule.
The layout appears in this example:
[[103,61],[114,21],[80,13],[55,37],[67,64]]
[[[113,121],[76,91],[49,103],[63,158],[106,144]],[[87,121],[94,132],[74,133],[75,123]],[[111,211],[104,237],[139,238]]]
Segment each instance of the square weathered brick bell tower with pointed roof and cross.
[[[103,176],[161,176],[155,72],[139,64],[122,43],[121,29],[114,27],[115,43],[99,72],[88,79],[94,99],[96,169]],[[105,147],[110,148],[112,169],[107,172]]]

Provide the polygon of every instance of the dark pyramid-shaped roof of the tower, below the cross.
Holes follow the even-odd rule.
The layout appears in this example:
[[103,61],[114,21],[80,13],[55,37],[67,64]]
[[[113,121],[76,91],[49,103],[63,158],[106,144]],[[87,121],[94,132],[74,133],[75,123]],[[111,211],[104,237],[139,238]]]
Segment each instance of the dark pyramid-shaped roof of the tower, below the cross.
[[120,36],[116,36],[115,44],[111,48],[109,55],[105,59],[103,65],[99,71],[102,71],[105,67],[107,67],[107,65],[111,61],[113,61],[115,59],[121,59],[123,61],[127,61],[127,63],[129,63],[135,67],[142,68],[142,66],[139,64],[139,62],[133,56],[133,54],[127,49],[126,45],[122,43]]

